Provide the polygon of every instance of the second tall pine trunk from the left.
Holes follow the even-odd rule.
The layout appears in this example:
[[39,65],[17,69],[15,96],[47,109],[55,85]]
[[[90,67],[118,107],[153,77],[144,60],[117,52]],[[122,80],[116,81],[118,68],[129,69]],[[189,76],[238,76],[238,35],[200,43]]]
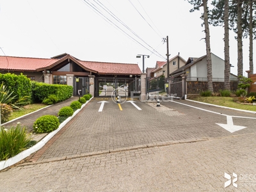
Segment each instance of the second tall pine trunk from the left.
[[229,23],[228,23],[228,0],[225,0],[224,7],[224,52],[225,52],[225,72],[224,72],[224,88],[230,90],[230,58],[229,58]]

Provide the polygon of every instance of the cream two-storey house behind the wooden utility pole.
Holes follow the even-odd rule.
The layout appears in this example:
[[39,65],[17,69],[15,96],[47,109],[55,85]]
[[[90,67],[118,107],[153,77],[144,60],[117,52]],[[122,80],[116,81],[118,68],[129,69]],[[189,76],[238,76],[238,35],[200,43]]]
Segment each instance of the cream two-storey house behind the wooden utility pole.
[[[180,67],[184,66],[186,60],[184,60],[179,54],[169,60],[169,72],[170,74],[179,69]],[[167,75],[167,62],[166,61],[156,61],[156,67],[154,70],[151,71],[150,77],[159,77],[164,75],[164,77],[168,77]]]

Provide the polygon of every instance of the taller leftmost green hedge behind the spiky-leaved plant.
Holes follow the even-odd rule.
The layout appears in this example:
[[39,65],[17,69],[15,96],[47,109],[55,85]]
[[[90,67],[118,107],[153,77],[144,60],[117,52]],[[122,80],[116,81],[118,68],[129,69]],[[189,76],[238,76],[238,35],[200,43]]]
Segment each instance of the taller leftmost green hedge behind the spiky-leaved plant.
[[31,99],[31,81],[28,77],[20,74],[0,74],[0,83],[4,82],[7,85],[12,95],[17,95],[17,98],[13,100],[13,103],[17,100],[23,101]]

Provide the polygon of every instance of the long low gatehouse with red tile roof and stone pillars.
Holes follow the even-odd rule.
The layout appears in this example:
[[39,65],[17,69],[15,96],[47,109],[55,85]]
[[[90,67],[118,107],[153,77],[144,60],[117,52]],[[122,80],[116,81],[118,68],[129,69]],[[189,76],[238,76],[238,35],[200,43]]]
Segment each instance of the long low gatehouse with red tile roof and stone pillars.
[[[33,81],[68,84],[74,95],[91,93],[99,96],[100,84],[127,86],[129,92],[140,87],[141,70],[137,64],[82,61],[64,53],[52,58],[22,58],[0,56],[0,73],[20,73]],[[136,84],[136,85],[135,85]]]

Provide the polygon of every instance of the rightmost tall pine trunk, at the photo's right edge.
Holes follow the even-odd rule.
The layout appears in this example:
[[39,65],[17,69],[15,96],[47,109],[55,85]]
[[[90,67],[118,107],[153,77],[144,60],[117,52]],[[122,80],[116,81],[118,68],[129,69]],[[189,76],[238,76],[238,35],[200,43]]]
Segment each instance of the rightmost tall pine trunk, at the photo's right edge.
[[249,1],[249,4],[250,4],[250,21],[249,21],[249,24],[250,24],[250,45],[249,45],[249,64],[250,64],[250,71],[251,71],[251,74],[253,74],[253,17],[252,17],[252,14],[253,14],[253,8],[252,8],[252,0]]

